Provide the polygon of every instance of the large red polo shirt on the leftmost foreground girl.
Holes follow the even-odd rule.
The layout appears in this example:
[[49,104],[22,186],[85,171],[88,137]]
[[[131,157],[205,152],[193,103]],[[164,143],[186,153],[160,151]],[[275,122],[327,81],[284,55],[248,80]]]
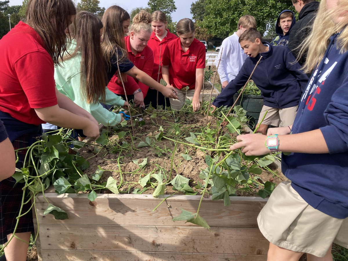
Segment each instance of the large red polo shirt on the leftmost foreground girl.
[[0,40],[0,110],[25,123],[44,123],[34,109],[57,104],[54,64],[41,37],[19,22]]

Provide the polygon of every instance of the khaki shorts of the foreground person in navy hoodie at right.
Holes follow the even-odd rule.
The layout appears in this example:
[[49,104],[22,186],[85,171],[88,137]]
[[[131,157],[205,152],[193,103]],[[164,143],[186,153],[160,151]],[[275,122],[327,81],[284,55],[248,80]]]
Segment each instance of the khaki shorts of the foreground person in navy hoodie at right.
[[311,207],[282,182],[272,192],[258,216],[261,233],[287,250],[326,255],[332,243],[348,247],[348,218],[337,219]]

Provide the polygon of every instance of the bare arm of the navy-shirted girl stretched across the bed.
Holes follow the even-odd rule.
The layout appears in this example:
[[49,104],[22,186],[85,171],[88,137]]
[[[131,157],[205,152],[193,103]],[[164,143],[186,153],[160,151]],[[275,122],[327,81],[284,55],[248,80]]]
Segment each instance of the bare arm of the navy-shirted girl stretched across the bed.
[[137,80],[141,81],[143,84],[152,87],[155,90],[161,92],[164,96],[168,98],[177,99],[174,87],[166,87],[161,85],[159,82],[152,79],[148,74],[133,66],[132,69],[126,72],[129,76],[135,77]]

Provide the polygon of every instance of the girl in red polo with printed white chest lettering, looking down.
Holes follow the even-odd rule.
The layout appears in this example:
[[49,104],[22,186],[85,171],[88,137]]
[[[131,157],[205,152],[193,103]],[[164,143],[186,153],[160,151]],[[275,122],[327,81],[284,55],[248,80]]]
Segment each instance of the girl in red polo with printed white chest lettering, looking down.
[[193,111],[200,108],[199,94],[203,86],[205,46],[195,38],[195,24],[189,18],[176,24],[178,39],[166,46],[162,75],[167,86],[173,86],[179,100],[170,99],[171,108],[180,110],[185,100],[192,100]]

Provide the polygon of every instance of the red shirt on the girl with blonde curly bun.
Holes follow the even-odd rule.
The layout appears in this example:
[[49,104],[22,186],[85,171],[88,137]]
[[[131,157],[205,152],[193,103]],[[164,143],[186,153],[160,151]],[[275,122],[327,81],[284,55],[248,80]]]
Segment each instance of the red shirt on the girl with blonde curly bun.
[[[152,73],[152,67],[153,67],[153,54],[150,47],[145,46],[144,50],[142,52],[138,52],[136,55],[132,53],[132,49],[130,49],[130,40],[129,35],[125,37],[126,42],[126,48],[128,51],[128,59],[139,69],[143,72],[147,73],[149,76],[151,76]],[[141,89],[144,97],[146,96],[149,86],[143,84],[139,80],[130,77],[127,75],[127,81],[124,81],[125,88],[127,95],[132,95],[135,90]],[[115,73],[114,76],[111,78],[109,84],[108,84],[109,90],[111,92],[116,94],[125,94],[122,82],[118,81],[118,73]]]

